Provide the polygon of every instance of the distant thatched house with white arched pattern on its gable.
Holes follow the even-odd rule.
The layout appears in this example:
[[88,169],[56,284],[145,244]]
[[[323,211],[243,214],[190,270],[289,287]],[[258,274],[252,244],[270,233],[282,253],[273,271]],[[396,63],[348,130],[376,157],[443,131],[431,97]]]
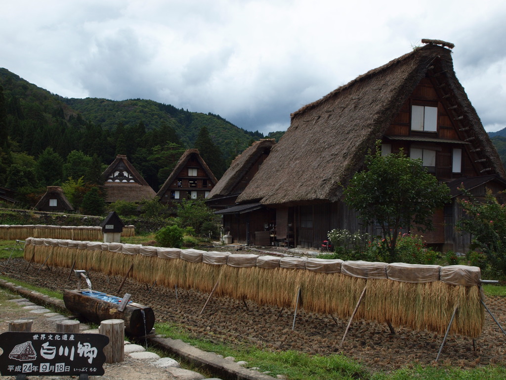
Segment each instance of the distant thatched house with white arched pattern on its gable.
[[105,178],[108,203],[119,200],[139,202],[151,199],[156,194],[124,155],[117,155],[102,175]]

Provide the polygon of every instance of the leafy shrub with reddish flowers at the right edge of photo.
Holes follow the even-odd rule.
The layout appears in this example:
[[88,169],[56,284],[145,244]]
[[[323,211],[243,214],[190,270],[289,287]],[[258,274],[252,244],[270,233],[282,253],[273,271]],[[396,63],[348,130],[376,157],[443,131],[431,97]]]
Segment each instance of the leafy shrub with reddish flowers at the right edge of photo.
[[457,229],[472,235],[471,249],[481,251],[494,275],[506,276],[506,205],[500,204],[487,188],[485,199],[478,200],[466,189],[468,199],[458,203],[467,217],[456,222]]

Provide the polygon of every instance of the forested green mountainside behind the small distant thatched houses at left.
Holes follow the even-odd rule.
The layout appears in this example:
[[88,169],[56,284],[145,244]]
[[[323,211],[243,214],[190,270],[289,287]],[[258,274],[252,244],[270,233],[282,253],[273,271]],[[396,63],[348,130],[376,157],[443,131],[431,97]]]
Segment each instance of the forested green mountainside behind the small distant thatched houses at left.
[[152,100],[63,98],[0,68],[0,186],[16,190],[25,204],[48,185],[79,188],[78,201],[101,185],[100,173],[118,154],[155,191],[187,148],[199,148],[219,178],[263,137],[219,115]]

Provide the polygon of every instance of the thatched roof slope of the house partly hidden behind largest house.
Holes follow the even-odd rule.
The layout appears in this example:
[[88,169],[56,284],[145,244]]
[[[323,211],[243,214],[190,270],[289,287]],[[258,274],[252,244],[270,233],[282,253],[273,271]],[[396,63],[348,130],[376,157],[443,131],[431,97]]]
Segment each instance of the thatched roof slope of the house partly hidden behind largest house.
[[255,141],[251,146],[246,148],[239,156],[237,156],[230,167],[227,169],[223,177],[209,193],[207,200],[232,195],[234,188],[241,181],[251,167],[268,149],[276,144],[274,139],[262,139]]

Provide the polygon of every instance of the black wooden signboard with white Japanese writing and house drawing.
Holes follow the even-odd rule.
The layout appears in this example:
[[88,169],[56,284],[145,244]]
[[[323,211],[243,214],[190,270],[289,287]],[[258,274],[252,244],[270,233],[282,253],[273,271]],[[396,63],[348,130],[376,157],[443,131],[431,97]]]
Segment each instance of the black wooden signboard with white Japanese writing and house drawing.
[[0,335],[0,373],[9,375],[103,375],[101,334],[4,332]]

